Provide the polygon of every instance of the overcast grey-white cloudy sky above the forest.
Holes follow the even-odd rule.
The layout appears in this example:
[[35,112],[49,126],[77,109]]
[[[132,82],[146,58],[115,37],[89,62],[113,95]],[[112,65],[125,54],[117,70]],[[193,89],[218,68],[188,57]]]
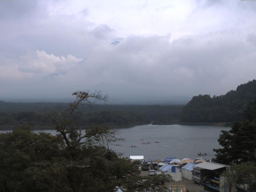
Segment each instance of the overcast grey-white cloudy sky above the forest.
[[6,0],[0,26],[0,98],[172,103],[256,78],[252,0]]

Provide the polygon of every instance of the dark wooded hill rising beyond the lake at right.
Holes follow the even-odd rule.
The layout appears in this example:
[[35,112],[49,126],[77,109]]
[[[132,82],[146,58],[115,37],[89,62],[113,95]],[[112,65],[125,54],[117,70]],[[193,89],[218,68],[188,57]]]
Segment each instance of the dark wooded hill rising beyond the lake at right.
[[256,80],[239,85],[225,95],[194,96],[182,108],[180,123],[235,122],[243,119],[243,111],[256,99]]

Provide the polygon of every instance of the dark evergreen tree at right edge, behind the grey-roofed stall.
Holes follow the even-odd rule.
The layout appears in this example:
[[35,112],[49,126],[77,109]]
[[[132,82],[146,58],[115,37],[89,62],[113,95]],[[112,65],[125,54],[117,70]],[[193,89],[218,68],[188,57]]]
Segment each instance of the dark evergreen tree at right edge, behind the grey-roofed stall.
[[219,163],[256,163],[256,100],[248,104],[242,122],[235,122],[229,131],[222,130],[218,142],[222,148],[214,151]]

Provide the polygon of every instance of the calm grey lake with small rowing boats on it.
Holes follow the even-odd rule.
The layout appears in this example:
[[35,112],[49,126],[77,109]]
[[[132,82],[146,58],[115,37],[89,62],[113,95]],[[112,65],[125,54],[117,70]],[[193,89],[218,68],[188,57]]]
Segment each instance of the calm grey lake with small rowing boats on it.
[[[153,160],[162,160],[166,157],[211,159],[214,158],[212,149],[220,148],[217,139],[221,130],[230,130],[230,128],[151,124],[122,128],[117,129],[117,131],[118,136],[124,138],[124,140],[113,143],[110,148],[117,153],[122,153],[124,157],[144,155],[145,159],[151,158]],[[35,132],[41,131],[36,130]],[[55,130],[44,130],[44,132],[56,134]],[[143,142],[150,142],[150,144],[142,144]],[[120,146],[116,146],[116,144]],[[129,147],[134,145],[138,147]],[[200,152],[206,152],[207,156],[197,156]]]

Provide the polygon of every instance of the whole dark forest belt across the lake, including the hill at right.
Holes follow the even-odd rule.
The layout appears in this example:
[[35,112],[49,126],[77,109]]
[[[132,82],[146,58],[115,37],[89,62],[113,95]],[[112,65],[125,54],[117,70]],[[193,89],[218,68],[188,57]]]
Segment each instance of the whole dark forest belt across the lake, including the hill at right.
[[[74,119],[84,126],[125,128],[142,124],[218,124],[232,125],[243,119],[243,111],[256,98],[256,80],[241,84],[225,95],[194,96],[182,105],[94,105],[80,106]],[[4,102],[0,101],[0,129],[14,129],[28,125],[32,129],[52,129],[53,122],[45,116],[53,111],[67,109],[68,103]]]

